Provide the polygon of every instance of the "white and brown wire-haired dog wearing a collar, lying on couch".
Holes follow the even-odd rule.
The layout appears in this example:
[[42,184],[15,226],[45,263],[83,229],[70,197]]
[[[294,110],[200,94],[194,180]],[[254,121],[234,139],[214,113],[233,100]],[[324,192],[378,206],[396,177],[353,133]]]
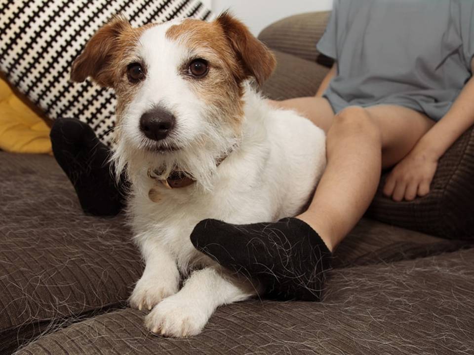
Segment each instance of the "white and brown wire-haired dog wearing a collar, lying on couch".
[[255,89],[275,66],[227,12],[140,28],[119,16],[73,63],[72,80],[90,76],[117,94],[113,160],[131,183],[127,211],[146,264],[129,303],[150,311],[153,333],[197,335],[217,307],[262,291],[193,247],[200,220],[294,216],[323,172],[324,132]]

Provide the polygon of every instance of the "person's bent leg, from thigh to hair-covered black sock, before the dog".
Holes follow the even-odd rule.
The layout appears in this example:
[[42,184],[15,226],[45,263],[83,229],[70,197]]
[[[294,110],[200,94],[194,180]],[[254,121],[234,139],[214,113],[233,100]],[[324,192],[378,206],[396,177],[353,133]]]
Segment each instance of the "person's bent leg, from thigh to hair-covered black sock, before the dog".
[[[319,117],[313,117],[316,123]],[[320,300],[331,251],[368,207],[381,167],[399,161],[432,125],[403,107],[350,107],[332,120],[328,165],[308,211],[237,228],[205,219],[193,230],[191,242],[222,266],[258,280],[267,294]]]

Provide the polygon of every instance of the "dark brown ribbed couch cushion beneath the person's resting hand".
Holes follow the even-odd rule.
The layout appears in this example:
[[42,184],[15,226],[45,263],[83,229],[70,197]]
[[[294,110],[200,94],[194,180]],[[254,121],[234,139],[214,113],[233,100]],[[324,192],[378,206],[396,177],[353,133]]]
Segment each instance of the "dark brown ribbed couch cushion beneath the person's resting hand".
[[427,196],[394,202],[382,194],[385,177],[368,216],[442,238],[474,240],[474,127],[441,157]]

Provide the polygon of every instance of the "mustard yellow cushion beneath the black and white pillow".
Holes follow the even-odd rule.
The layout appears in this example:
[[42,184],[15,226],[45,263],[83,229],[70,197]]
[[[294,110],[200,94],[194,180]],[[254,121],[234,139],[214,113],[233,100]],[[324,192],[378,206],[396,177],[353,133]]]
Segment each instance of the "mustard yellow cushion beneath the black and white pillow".
[[50,128],[0,78],[0,149],[51,153]]

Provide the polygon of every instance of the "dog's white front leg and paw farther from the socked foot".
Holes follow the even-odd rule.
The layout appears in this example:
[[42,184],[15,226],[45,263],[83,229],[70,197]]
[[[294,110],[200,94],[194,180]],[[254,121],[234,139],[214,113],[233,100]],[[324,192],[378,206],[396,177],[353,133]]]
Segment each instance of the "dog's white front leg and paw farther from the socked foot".
[[162,245],[152,239],[140,243],[145,271],[130,296],[130,306],[151,310],[163,298],[178,292],[179,271],[176,260]]

